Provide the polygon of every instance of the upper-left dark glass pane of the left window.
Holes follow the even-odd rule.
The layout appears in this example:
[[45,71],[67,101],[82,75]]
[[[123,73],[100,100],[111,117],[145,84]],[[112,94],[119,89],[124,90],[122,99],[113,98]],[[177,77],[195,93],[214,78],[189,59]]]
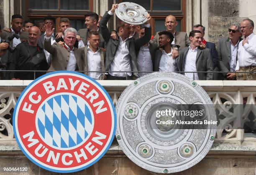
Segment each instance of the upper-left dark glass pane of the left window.
[[58,10],[58,0],[30,0],[31,10]]

